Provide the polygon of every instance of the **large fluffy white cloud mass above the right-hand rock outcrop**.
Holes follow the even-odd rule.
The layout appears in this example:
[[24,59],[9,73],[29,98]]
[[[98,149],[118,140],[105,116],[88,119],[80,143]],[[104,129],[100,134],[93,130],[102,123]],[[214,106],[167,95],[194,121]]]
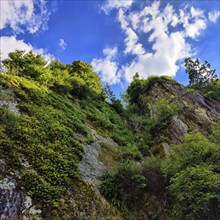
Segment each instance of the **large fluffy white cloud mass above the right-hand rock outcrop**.
[[107,14],[113,8],[118,10],[117,21],[125,34],[124,63],[119,65],[106,55],[93,60],[103,81],[111,84],[121,82],[122,77],[131,82],[136,72],[142,78],[175,76],[184,58],[194,55],[192,40],[197,40],[207,28],[208,19],[216,22],[220,16],[215,11],[207,18],[203,10],[189,5],[179,10],[169,3],[161,7],[160,1],[136,11],[126,10],[131,5],[132,1],[108,0],[102,8]]

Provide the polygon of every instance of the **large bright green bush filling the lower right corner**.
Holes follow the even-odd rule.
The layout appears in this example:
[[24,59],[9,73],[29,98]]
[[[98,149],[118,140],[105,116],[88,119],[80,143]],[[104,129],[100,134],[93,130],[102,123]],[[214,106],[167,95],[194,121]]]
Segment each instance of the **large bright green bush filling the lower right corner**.
[[172,146],[162,163],[174,219],[218,219],[220,147],[201,134]]

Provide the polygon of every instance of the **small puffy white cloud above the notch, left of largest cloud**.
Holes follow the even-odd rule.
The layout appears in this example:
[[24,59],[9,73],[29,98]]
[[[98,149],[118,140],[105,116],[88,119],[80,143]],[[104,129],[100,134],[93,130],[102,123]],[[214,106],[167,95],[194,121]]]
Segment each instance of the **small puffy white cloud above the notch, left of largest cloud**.
[[119,83],[121,76],[118,72],[118,64],[114,61],[117,48],[105,48],[103,54],[105,58],[92,60],[93,70],[100,75],[102,82],[110,85]]

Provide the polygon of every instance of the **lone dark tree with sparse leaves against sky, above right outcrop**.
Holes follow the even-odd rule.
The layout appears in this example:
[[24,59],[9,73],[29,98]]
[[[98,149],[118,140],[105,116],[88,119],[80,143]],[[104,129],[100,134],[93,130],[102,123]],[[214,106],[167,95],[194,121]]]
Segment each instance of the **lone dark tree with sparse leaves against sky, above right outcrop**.
[[200,63],[199,59],[192,60],[190,57],[185,59],[185,70],[189,75],[189,85],[202,86],[209,84],[213,78],[216,77],[215,69],[211,69],[211,65],[208,61],[203,64]]

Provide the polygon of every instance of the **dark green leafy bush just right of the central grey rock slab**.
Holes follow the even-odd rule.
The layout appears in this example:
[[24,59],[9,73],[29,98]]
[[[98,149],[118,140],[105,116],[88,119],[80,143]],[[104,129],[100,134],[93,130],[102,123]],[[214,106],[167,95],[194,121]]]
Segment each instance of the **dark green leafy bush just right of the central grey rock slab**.
[[101,193],[121,209],[135,209],[147,186],[139,167],[130,161],[120,164],[116,173],[105,173],[101,180]]

